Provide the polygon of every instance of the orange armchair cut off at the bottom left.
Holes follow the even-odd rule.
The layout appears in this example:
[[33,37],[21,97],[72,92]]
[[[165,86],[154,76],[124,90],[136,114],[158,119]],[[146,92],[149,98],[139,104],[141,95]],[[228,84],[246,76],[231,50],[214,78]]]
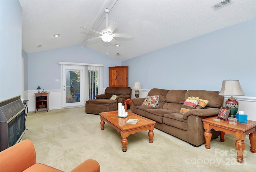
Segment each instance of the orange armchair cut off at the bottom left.
[[[0,152],[1,172],[63,172],[45,164],[36,163],[36,151],[32,141],[24,140]],[[72,172],[100,172],[96,160],[88,159]]]

